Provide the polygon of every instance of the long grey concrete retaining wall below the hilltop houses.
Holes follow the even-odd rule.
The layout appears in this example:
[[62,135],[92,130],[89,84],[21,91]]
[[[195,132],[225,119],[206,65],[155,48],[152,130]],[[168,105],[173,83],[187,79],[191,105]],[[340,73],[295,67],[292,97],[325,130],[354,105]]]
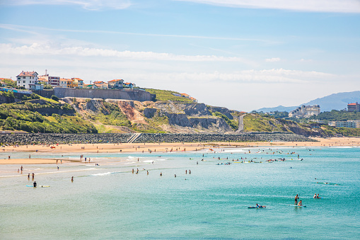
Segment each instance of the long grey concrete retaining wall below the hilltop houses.
[[80,88],[54,88],[54,95],[58,98],[103,98],[126,99],[133,101],[153,101],[155,94],[137,89],[80,89]]

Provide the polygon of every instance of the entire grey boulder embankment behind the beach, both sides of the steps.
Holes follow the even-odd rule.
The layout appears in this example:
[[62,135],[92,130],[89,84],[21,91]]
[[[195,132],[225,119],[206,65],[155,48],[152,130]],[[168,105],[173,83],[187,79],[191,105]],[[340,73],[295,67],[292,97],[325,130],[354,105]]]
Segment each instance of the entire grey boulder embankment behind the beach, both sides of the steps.
[[[124,134],[7,134],[0,135],[0,144],[95,144],[127,142],[132,137],[130,133]],[[301,135],[283,133],[260,134],[151,134],[144,133],[135,142],[315,142],[315,140]]]

